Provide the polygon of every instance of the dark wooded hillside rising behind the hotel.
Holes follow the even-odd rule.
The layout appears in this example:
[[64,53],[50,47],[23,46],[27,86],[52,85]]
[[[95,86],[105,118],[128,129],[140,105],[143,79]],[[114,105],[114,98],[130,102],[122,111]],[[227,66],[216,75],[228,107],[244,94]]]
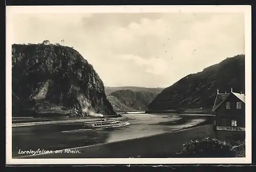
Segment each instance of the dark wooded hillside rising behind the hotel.
[[244,55],[226,58],[202,72],[185,76],[158,94],[148,109],[212,108],[217,89],[224,93],[231,88],[233,92],[245,91]]

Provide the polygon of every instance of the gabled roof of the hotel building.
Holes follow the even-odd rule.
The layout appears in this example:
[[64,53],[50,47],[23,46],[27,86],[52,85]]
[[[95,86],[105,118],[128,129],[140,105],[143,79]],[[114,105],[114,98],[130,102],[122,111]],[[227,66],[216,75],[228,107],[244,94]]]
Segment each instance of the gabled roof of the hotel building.
[[212,112],[216,111],[216,109],[228,98],[230,94],[233,94],[237,98],[239,98],[241,101],[245,103],[245,94],[240,94],[240,93],[225,93],[225,94],[217,94],[215,102],[214,102],[214,107],[212,108]]

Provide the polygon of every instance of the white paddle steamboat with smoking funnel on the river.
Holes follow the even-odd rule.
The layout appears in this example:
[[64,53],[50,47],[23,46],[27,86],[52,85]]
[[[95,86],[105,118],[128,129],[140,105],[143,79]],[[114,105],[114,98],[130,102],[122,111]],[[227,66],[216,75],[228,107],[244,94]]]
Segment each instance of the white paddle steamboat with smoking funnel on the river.
[[116,120],[116,119],[105,119],[102,117],[99,121],[84,122],[83,128],[99,128],[99,127],[118,127],[130,125],[129,119]]

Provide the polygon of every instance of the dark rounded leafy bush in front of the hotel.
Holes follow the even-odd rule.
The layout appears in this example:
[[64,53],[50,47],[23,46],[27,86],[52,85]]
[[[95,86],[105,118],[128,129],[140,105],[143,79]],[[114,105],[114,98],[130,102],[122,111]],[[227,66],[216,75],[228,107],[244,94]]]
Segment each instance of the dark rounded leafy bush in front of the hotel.
[[183,144],[183,149],[177,155],[186,158],[225,158],[236,157],[237,151],[233,148],[233,145],[224,140],[204,138],[202,140],[191,140]]

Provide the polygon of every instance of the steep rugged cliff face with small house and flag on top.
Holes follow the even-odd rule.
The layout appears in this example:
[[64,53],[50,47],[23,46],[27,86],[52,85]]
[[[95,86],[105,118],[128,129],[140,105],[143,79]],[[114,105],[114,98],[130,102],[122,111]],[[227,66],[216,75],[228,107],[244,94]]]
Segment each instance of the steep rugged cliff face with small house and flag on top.
[[13,116],[46,106],[76,117],[116,115],[93,66],[70,47],[12,45],[12,92]]

